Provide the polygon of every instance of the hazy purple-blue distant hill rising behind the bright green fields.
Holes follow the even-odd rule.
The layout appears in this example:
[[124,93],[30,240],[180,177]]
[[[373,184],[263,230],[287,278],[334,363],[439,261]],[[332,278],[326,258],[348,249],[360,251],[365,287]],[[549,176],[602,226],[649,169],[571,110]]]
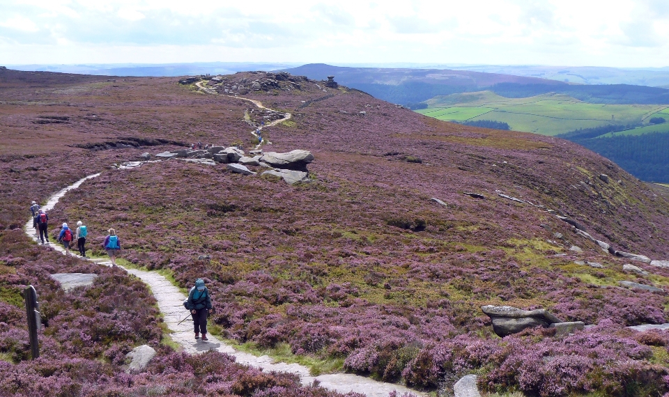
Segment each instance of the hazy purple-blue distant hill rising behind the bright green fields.
[[438,95],[489,90],[507,98],[527,98],[545,93],[563,93],[578,100],[605,104],[666,104],[669,90],[629,84],[578,85],[564,81],[449,69],[346,68],[311,63],[286,69],[293,75],[325,79],[332,75],[345,86],[412,109]]

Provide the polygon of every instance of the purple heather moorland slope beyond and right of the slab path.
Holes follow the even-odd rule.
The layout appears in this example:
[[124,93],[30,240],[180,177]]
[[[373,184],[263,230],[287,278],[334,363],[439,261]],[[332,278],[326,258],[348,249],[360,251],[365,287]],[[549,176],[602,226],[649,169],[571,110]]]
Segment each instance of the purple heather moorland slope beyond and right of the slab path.
[[[223,336],[415,387],[476,371],[486,389],[546,396],[623,395],[629,384],[667,390],[662,348],[623,326],[667,322],[669,299],[618,282],[668,288],[669,271],[640,263],[652,274],[626,274],[628,260],[546,210],[615,249],[668,259],[669,202],[585,148],[445,123],[320,81],[238,73],[208,86],[225,94],[226,86],[268,84],[240,96],[292,114],[263,130],[273,143],[264,150],[310,150],[311,183],[178,160],[109,169],[178,142],[248,149],[256,141],[244,116],[259,122],[265,113],[169,78],[82,77],[68,88],[45,81],[26,90],[20,77],[0,75],[3,226],[23,224],[34,196],[13,187],[19,176],[48,180],[72,170],[74,178],[99,167],[100,177],[49,216],[85,219],[98,253],[104,231],[116,228],[125,258],[169,270],[180,286],[206,277],[219,309],[211,320]],[[537,330],[500,339],[484,304],[544,307],[598,326],[567,337]],[[568,361],[574,355],[583,361]],[[559,357],[562,367],[546,357]],[[623,364],[631,369],[614,376]]]

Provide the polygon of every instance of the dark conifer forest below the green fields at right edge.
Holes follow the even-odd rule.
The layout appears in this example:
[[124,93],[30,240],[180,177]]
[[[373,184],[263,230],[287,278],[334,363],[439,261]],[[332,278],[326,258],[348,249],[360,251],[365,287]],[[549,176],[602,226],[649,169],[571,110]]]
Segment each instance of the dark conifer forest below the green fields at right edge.
[[[608,125],[606,127],[613,126]],[[629,130],[629,128],[624,129]],[[669,133],[654,132],[643,135],[596,138],[601,134],[588,137],[586,130],[596,129],[589,128],[567,132],[567,134],[562,134],[561,137],[599,153],[640,180],[669,183]],[[578,131],[580,131],[580,136],[575,134]],[[615,132],[615,130],[608,130],[603,134],[608,132]],[[569,134],[572,134],[571,137],[567,137]]]

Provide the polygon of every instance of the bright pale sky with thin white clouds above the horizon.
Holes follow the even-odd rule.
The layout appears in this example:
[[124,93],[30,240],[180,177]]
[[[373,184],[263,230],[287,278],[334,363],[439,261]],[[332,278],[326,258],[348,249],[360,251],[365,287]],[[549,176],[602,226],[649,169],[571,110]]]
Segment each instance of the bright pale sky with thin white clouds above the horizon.
[[0,65],[669,66],[669,0],[0,0]]

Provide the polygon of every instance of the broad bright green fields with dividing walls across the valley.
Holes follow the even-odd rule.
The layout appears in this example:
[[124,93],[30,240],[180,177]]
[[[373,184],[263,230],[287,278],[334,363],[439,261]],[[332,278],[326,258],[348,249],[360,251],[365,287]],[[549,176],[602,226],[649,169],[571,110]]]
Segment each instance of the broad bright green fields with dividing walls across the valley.
[[579,128],[610,124],[638,124],[651,116],[669,118],[667,105],[592,104],[569,95],[544,94],[531,98],[504,98],[491,91],[437,96],[425,101],[420,114],[439,120],[495,120],[514,131],[557,135]]

